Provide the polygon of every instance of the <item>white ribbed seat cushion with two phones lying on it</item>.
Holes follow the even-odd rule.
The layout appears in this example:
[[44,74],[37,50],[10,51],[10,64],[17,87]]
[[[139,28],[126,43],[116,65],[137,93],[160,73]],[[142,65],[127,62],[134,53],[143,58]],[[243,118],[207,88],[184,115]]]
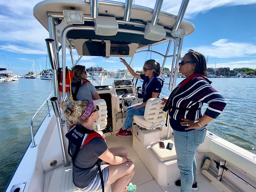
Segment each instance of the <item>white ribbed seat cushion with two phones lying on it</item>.
[[[169,161],[172,159],[176,159],[176,150],[175,145],[172,140],[163,140],[165,148],[160,148],[158,141],[150,144],[150,149],[155,153],[160,161]],[[168,143],[173,143],[172,150],[166,149]]]

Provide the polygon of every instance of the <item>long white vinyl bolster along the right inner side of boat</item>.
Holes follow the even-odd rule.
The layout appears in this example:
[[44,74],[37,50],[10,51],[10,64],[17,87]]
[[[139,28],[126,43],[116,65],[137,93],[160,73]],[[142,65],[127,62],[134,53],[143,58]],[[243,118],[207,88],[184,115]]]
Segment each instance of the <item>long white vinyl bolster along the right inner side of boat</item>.
[[209,144],[209,150],[256,178],[256,161],[244,155],[244,149],[236,148],[235,151],[232,148],[228,148],[228,146],[224,146],[216,141],[211,140]]

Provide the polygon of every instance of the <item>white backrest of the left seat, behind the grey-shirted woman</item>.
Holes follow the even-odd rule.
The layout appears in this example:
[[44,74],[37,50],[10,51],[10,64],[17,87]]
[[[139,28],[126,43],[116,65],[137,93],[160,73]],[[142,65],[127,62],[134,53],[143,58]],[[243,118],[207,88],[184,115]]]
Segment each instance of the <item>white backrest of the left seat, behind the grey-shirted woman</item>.
[[93,129],[94,131],[101,131],[106,128],[107,126],[107,104],[104,99],[99,99],[99,100],[94,100],[93,103],[95,105],[98,105],[100,110],[99,110],[99,119],[97,119],[94,124],[93,124]]

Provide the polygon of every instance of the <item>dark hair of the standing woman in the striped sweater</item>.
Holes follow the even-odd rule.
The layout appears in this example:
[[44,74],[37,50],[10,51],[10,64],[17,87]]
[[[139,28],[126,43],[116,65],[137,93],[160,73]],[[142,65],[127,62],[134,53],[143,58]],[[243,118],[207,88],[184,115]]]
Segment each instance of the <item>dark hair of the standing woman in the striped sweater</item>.
[[190,49],[185,55],[188,55],[196,63],[195,73],[200,73],[204,76],[207,75],[206,59],[202,53]]

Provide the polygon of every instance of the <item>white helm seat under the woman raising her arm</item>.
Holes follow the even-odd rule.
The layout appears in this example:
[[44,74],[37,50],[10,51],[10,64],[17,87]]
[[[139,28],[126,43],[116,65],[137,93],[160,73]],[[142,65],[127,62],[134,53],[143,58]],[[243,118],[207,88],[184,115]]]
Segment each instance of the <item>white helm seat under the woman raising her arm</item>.
[[164,126],[166,119],[166,112],[162,109],[164,105],[161,104],[161,98],[149,99],[146,104],[144,116],[133,116],[133,123],[140,127],[152,130]]

